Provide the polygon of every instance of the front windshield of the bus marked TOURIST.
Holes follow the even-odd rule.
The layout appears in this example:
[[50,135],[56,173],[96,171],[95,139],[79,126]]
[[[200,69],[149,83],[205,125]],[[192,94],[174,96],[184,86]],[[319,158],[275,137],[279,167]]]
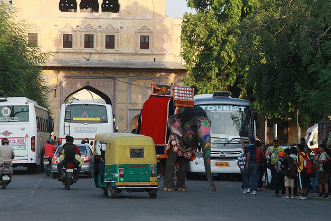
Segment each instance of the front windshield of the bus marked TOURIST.
[[212,125],[212,138],[232,139],[252,136],[253,121],[249,106],[229,104],[197,105],[204,109]]

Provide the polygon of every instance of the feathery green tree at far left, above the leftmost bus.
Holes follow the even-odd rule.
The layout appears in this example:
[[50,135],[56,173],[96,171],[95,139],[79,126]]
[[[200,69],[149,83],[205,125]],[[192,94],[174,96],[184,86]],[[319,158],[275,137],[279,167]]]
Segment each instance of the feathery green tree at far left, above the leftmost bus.
[[28,46],[26,25],[15,20],[7,3],[0,3],[0,95],[25,96],[48,107],[41,64],[50,53]]

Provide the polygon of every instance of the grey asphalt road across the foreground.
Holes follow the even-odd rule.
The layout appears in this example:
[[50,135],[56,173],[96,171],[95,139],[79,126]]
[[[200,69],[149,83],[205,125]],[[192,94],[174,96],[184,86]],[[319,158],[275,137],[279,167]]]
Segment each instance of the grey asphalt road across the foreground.
[[[162,182],[162,181],[161,181]],[[243,194],[241,182],[187,180],[187,192],[126,193],[102,196],[93,179],[81,178],[65,190],[44,173],[16,170],[7,189],[0,189],[1,220],[329,220],[331,199],[273,197],[272,190]]]

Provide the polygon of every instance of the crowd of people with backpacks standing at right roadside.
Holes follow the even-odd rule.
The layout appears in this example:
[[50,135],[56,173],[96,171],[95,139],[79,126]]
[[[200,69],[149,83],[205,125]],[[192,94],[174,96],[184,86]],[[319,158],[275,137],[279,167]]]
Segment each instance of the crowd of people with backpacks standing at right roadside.
[[311,150],[301,138],[300,144],[284,149],[278,146],[278,140],[273,140],[273,146],[266,151],[265,144],[257,137],[248,137],[247,144],[237,142],[244,146],[237,162],[243,193],[255,195],[257,191],[264,191],[262,177],[267,176],[268,168],[271,173],[269,189],[275,190],[275,197],[308,199],[311,193],[317,194],[316,199],[329,198],[331,173],[327,165],[331,163],[331,150],[325,144]]

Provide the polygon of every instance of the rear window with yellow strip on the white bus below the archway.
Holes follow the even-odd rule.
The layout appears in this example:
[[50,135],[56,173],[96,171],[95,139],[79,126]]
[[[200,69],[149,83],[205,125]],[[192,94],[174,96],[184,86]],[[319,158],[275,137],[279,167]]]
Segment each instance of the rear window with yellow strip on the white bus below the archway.
[[98,104],[72,104],[67,105],[65,122],[93,124],[107,123],[107,109]]

